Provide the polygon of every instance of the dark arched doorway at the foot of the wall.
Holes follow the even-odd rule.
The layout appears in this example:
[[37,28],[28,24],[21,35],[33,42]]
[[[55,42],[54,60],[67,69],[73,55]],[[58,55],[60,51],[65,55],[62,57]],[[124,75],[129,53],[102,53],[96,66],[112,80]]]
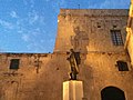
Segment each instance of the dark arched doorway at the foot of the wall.
[[115,87],[106,87],[101,91],[101,100],[125,100],[124,91]]

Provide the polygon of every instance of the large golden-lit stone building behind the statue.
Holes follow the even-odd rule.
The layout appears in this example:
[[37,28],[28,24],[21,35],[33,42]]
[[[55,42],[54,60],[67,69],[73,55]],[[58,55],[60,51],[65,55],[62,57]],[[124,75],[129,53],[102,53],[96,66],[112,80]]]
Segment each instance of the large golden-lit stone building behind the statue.
[[61,9],[53,53],[1,53],[0,100],[62,100],[70,49],[80,53],[83,100],[132,100],[127,10]]

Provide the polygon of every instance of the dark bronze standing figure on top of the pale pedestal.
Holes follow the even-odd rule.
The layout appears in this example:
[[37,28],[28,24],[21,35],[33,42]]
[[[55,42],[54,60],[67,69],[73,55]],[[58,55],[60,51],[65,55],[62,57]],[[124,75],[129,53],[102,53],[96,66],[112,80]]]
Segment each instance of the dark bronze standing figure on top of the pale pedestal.
[[71,80],[76,80],[76,74],[79,73],[79,64],[80,64],[80,52],[74,52],[73,49],[70,50],[70,57],[66,59],[71,66],[70,78]]

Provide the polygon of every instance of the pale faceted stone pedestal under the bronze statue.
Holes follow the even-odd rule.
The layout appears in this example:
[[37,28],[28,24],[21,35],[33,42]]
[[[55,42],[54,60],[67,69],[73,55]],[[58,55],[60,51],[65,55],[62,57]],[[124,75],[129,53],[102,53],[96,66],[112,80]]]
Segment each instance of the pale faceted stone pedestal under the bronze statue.
[[63,82],[63,100],[82,100],[83,83],[78,80]]

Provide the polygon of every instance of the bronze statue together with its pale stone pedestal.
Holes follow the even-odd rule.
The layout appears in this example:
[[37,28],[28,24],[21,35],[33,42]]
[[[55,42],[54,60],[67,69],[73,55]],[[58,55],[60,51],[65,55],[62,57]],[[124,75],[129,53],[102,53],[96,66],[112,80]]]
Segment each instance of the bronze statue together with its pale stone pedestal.
[[70,62],[70,80],[63,82],[63,100],[83,100],[83,83],[79,81],[80,53],[70,50],[70,57],[66,59]]

